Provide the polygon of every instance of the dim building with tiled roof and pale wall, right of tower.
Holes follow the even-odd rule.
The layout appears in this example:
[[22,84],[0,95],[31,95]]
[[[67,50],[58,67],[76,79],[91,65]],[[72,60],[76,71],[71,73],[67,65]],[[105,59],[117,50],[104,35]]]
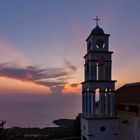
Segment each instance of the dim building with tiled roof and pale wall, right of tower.
[[140,82],[116,90],[116,109],[121,140],[140,140]]

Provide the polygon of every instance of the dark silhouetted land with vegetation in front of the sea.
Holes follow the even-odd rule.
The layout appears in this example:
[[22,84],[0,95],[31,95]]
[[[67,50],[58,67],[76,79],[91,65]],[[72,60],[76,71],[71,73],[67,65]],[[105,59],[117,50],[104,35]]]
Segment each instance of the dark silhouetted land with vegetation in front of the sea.
[[79,140],[80,116],[75,120],[59,119],[53,121],[57,127],[4,129],[5,121],[0,122],[0,140]]

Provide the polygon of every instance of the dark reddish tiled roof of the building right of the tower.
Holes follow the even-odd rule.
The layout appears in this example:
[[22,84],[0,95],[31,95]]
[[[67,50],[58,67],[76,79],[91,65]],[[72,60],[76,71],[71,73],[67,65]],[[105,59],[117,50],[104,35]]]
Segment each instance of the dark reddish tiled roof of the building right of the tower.
[[140,104],[140,82],[125,84],[117,89],[116,103]]

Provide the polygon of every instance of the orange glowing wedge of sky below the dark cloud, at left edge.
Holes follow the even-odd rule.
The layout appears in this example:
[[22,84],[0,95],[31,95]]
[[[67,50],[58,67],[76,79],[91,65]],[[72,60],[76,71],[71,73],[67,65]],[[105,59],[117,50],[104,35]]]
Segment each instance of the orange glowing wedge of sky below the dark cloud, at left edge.
[[0,77],[0,94],[47,94],[51,89],[28,81]]

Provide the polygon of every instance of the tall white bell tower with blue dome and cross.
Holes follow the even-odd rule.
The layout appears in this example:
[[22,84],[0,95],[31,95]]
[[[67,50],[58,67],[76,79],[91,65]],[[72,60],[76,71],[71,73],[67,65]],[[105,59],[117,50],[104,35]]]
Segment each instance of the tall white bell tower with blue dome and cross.
[[85,81],[82,83],[82,140],[118,140],[118,119],[115,112],[115,82],[111,80],[112,53],[109,36],[98,26],[87,38],[84,56]]

